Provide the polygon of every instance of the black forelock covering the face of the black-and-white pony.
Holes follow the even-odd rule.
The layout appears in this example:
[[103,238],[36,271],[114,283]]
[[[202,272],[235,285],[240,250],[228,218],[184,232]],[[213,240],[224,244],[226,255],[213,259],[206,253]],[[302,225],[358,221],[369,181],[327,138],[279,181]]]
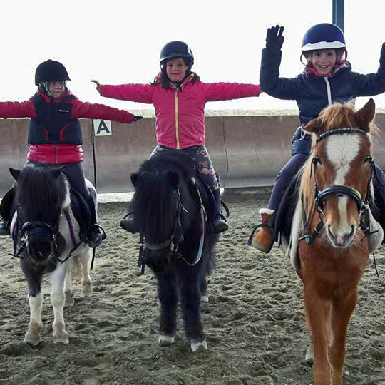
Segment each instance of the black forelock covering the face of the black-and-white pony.
[[54,178],[44,163],[26,165],[16,185],[16,202],[26,217],[46,221],[61,206],[68,193],[68,182],[61,174]]

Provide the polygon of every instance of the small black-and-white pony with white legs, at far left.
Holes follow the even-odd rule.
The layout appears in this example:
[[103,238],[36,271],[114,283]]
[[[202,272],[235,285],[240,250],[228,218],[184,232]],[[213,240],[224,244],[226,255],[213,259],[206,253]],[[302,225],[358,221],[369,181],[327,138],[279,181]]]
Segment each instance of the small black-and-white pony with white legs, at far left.
[[75,263],[76,267],[81,265],[83,272],[82,296],[92,294],[91,249],[79,239],[79,226],[71,210],[63,168],[39,163],[30,163],[22,170],[10,168],[16,179],[16,211],[11,234],[15,256],[21,258],[21,270],[29,286],[31,314],[24,342],[34,346],[41,340],[41,283],[45,274],[51,279],[54,343],[68,344],[63,307],[73,304],[72,267]]

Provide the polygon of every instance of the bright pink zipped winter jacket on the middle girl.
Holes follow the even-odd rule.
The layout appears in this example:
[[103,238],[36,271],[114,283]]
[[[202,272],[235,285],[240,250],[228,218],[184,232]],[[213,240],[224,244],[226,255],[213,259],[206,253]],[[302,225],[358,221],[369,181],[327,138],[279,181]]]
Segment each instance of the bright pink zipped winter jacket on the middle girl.
[[192,82],[192,73],[176,88],[152,84],[122,84],[98,86],[101,96],[153,104],[156,119],[156,140],[169,148],[205,145],[205,104],[208,101],[259,96],[260,86],[240,83]]

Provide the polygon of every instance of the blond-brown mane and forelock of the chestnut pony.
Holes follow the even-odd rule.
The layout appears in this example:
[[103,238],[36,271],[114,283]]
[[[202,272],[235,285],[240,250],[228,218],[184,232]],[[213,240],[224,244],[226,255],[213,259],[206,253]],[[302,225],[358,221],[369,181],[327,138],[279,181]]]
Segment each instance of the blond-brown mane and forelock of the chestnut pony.
[[[319,126],[323,128],[324,132],[329,130],[338,130],[343,127],[356,127],[355,115],[356,109],[354,108],[354,101],[348,103],[333,103],[332,106],[324,108],[318,117]],[[359,128],[359,127],[358,127]],[[372,134],[379,134],[379,128],[370,123],[369,125],[369,140],[371,140]],[[299,171],[301,183],[299,185],[299,197],[302,197],[302,204],[307,214],[307,222],[312,218],[315,210],[314,200],[314,173],[312,173],[312,158],[314,153],[314,145],[317,139],[317,135],[312,133],[312,150],[309,158],[306,160],[302,169]]]

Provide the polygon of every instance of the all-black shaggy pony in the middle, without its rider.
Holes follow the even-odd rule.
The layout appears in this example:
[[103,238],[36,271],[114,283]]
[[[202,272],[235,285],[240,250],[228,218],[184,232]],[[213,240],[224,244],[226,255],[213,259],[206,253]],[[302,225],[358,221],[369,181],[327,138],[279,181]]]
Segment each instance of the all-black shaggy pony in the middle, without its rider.
[[178,151],[160,153],[146,160],[131,180],[135,187],[131,208],[144,235],[145,264],[158,279],[158,343],[173,344],[180,299],[191,349],[207,349],[200,302],[207,300],[206,275],[214,263],[218,235],[207,227],[195,165]]

